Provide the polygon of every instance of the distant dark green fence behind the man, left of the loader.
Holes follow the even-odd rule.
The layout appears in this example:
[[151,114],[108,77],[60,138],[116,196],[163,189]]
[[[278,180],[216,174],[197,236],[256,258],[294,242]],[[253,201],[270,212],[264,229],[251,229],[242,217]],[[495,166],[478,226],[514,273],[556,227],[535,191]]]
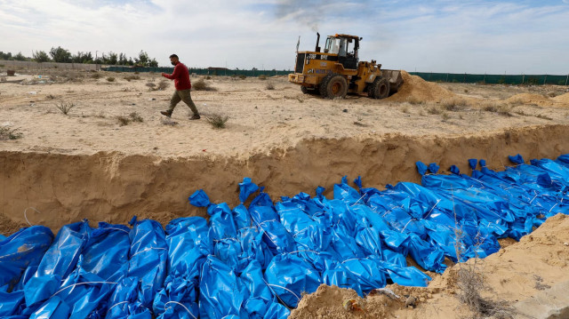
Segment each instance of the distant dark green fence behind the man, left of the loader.
[[[155,72],[155,73],[172,73],[174,68],[141,68],[141,67],[108,67],[103,68],[110,72]],[[293,70],[239,70],[239,69],[223,69],[223,68],[188,68],[189,73],[195,73],[198,76],[286,76],[293,73]]]

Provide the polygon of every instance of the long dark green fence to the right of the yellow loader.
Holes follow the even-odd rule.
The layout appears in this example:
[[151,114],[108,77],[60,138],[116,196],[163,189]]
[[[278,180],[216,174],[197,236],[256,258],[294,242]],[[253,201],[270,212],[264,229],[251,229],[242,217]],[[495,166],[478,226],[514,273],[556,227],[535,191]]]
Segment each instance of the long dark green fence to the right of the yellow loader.
[[420,76],[425,81],[430,82],[451,82],[451,83],[477,83],[477,84],[528,84],[528,85],[568,85],[569,75],[471,75],[467,73],[426,73],[409,72],[413,76]]

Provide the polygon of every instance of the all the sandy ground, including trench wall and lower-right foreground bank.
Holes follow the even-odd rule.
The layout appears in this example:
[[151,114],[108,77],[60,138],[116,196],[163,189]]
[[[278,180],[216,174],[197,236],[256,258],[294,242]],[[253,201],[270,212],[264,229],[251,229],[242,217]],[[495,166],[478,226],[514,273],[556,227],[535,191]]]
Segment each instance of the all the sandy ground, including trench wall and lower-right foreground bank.
[[[433,84],[405,74],[400,92],[387,100],[322,100],[284,77],[214,76],[204,81],[217,91],[192,92],[204,117],[189,121],[183,104],[172,120],[158,113],[173,92],[172,83],[149,89],[162,80],[158,75],[47,73],[6,81],[0,75],[0,129],[20,133],[0,140],[4,235],[27,225],[27,209],[31,223],[54,230],[84,218],[125,223],[138,214],[165,224],[205,216],[189,207],[188,195],[204,188],[213,202],[236,204],[244,176],[277,198],[332,189],[345,174],[362,175],[367,187],[418,181],[417,160],[440,163],[443,170],[458,164],[464,171],[471,157],[484,157],[497,169],[516,153],[526,159],[569,153],[569,93],[562,86]],[[75,108],[63,115],[56,108],[61,103]],[[132,113],[142,122],[121,125],[118,117]],[[225,129],[205,120],[213,114],[228,116]],[[323,286],[305,296],[292,317],[474,316],[456,298],[459,267],[485,274],[485,298],[509,304],[527,299],[569,280],[568,230],[569,219],[558,216],[520,243],[502,240],[504,248],[487,259],[450,267],[429,288],[389,287],[416,297],[415,308]],[[347,311],[346,299],[364,311]]]

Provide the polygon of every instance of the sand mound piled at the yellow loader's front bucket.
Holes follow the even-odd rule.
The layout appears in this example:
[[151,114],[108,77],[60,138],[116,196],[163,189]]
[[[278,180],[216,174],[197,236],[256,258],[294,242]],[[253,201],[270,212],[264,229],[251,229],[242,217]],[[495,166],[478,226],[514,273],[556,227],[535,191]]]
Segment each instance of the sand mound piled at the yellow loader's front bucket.
[[452,99],[456,95],[446,90],[438,84],[427,82],[419,76],[412,76],[405,71],[401,71],[403,84],[399,91],[390,96],[386,101],[405,102],[407,100],[417,100],[424,102],[438,102],[440,100]]

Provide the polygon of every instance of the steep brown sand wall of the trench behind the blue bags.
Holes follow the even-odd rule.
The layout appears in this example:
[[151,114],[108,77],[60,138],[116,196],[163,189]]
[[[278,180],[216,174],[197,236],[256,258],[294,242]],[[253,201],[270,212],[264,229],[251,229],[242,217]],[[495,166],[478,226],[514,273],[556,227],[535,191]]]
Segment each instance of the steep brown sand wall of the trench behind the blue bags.
[[[365,187],[398,181],[420,182],[415,162],[456,164],[469,173],[467,159],[484,158],[491,169],[509,165],[508,156],[555,158],[569,153],[569,126],[548,125],[466,136],[408,137],[388,134],[365,140],[302,140],[243,157],[160,158],[100,152],[69,156],[0,152],[0,233],[20,227],[61,226],[89,219],[127,223],[133,215],[163,224],[182,216],[205,216],[188,203],[202,188],[213,203],[238,203],[238,183],[250,177],[274,200],[318,186],[332,195],[347,175],[362,176]],[[31,208],[30,208],[31,207]],[[24,213],[26,211],[26,214]],[[28,219],[28,222],[26,221]]]

